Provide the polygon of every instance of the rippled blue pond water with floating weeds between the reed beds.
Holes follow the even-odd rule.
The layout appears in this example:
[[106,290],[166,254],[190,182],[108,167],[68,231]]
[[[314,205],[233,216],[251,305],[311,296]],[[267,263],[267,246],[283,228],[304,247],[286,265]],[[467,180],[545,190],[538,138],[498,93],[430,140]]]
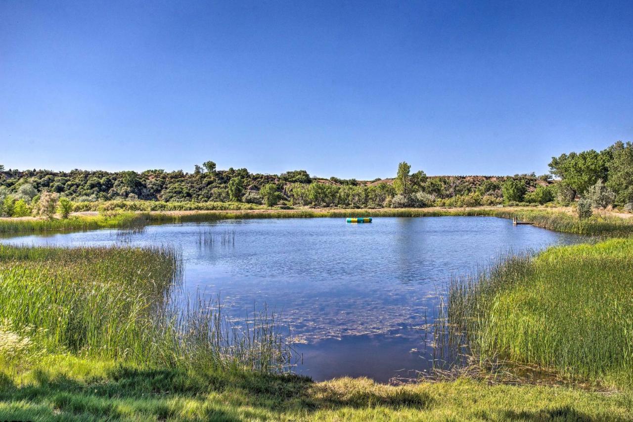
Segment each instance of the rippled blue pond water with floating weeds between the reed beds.
[[[121,244],[116,230],[4,238],[16,245]],[[204,241],[212,236],[214,241]],[[579,241],[579,236],[495,217],[248,219],[148,226],[125,245],[182,248],[185,288],[222,297],[229,313],[275,310],[298,339],[296,371],[315,380],[388,381],[432,366],[437,293],[451,276],[507,252]]]

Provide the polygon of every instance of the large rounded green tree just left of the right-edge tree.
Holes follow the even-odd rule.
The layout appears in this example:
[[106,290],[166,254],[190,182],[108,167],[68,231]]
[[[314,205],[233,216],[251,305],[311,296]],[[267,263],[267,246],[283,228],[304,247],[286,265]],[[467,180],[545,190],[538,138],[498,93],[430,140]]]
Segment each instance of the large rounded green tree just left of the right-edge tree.
[[599,179],[606,179],[608,160],[609,153],[606,151],[572,152],[552,157],[549,168],[552,174],[560,177],[575,193],[582,194]]

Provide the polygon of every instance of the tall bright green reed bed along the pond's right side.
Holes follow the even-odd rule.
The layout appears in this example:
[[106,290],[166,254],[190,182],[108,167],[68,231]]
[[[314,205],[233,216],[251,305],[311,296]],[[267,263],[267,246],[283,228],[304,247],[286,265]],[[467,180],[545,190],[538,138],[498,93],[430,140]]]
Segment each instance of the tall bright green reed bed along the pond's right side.
[[511,257],[454,281],[448,314],[482,361],[633,387],[633,238]]

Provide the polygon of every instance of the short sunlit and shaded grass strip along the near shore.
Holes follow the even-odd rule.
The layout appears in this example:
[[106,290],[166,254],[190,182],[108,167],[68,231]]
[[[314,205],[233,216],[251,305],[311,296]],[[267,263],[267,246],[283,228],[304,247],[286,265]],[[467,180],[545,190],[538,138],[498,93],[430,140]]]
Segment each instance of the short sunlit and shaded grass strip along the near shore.
[[633,396],[461,379],[399,387],[51,356],[0,381],[0,419],[625,421]]

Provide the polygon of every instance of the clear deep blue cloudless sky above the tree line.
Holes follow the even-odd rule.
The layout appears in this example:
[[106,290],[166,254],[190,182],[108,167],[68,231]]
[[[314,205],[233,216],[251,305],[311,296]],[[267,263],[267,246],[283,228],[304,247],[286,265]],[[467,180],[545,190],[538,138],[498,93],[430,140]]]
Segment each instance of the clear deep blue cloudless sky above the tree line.
[[633,1],[0,1],[0,163],[389,177],[633,139]]

